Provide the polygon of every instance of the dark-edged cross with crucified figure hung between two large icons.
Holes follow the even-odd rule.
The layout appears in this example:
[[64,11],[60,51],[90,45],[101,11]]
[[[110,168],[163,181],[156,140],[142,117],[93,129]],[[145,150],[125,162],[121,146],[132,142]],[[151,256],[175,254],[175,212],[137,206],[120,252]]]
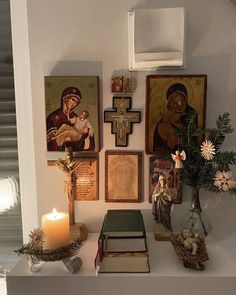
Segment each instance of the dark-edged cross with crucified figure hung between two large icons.
[[111,123],[111,133],[116,135],[116,146],[127,146],[128,135],[132,133],[133,123],[140,123],[141,112],[130,111],[131,97],[113,97],[112,108],[104,111],[104,122]]

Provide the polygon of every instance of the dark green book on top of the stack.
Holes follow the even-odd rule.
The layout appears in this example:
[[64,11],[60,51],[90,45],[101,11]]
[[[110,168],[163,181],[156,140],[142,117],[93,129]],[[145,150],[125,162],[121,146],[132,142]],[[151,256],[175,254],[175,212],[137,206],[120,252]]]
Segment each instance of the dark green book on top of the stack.
[[108,210],[101,231],[104,237],[145,237],[140,210]]

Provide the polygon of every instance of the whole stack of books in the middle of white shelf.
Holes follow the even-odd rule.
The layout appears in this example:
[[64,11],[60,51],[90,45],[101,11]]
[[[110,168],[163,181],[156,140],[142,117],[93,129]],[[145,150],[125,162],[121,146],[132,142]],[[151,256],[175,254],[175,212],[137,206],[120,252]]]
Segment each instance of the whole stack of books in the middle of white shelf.
[[140,210],[108,210],[98,240],[98,272],[150,272]]

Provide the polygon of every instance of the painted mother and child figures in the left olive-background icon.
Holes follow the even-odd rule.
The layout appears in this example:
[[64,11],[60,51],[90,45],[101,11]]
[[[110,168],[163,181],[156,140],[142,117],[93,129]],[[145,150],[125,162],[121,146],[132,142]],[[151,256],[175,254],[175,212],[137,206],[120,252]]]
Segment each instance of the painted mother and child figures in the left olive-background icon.
[[81,100],[78,88],[64,89],[61,107],[47,117],[48,151],[63,151],[66,145],[73,151],[94,150],[94,130],[88,119],[89,112],[82,110],[79,115],[74,112]]

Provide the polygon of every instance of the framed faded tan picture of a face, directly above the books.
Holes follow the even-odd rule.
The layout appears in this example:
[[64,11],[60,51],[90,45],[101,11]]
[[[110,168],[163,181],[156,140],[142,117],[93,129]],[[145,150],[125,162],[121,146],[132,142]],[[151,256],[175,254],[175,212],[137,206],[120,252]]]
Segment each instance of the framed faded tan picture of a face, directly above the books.
[[141,202],[142,158],[140,151],[105,152],[106,202]]

